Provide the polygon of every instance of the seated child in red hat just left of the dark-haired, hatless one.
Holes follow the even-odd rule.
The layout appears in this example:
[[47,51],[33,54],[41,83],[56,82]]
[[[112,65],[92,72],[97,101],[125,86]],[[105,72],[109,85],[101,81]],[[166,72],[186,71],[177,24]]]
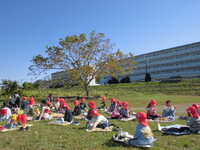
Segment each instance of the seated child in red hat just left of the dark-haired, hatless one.
[[161,117],[159,114],[156,113],[156,101],[152,99],[149,105],[146,107],[147,110],[147,119],[156,119]]

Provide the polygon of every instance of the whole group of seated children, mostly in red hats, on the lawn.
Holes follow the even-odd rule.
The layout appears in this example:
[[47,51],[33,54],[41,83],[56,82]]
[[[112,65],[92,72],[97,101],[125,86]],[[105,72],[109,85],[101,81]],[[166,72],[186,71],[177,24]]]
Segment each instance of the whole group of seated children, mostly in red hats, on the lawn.
[[[110,126],[108,119],[103,116],[99,110],[104,109],[105,112],[111,114],[111,119],[120,119],[129,117],[129,104],[128,102],[122,102],[114,98],[110,99],[110,107],[107,109],[106,97],[101,98],[101,106],[96,107],[93,101],[88,103],[89,109],[87,110],[86,100],[82,98],[80,103],[78,100],[74,100],[73,111],[69,107],[64,98],[56,98],[55,101],[51,101],[49,97],[46,97],[41,101],[39,105],[40,109],[36,109],[34,97],[30,97],[27,100],[26,97],[22,97],[21,105],[15,103],[4,103],[0,111],[0,121],[9,120],[5,128],[11,128],[17,125],[22,125],[22,129],[26,129],[27,115],[36,116],[35,120],[50,119],[52,111],[62,114],[59,119],[65,123],[72,123],[74,116],[83,115],[86,120],[86,129],[92,130],[95,128],[105,129]],[[12,108],[15,109],[12,109]],[[19,113],[19,107],[24,110],[24,113]],[[148,125],[147,119],[156,119],[160,117],[175,117],[176,107],[172,105],[170,100],[166,101],[162,115],[156,113],[156,100],[152,99],[146,107],[147,113],[138,112],[135,116],[138,121],[134,138],[129,140],[130,145],[153,145],[154,137],[153,133]],[[193,132],[200,130],[200,107],[197,104],[193,104],[187,109],[189,119],[187,125],[191,127]]]

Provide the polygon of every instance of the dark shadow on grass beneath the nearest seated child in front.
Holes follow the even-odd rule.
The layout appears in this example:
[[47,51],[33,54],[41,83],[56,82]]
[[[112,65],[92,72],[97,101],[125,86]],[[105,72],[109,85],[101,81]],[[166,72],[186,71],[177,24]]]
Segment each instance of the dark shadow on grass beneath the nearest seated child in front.
[[149,149],[149,148],[141,148],[141,147],[133,147],[133,146],[129,146],[129,145],[126,145],[126,144],[121,143],[121,142],[115,142],[115,141],[113,141],[112,139],[106,141],[103,145],[108,146],[108,147],[138,148],[138,149],[140,149],[140,150],[146,150],[146,149]]

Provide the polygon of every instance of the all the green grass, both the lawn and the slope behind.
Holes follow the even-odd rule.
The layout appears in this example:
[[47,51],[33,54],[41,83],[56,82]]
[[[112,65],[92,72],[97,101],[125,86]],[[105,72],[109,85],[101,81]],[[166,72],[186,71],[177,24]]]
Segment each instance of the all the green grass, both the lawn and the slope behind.
[[[190,89],[199,88],[193,86],[192,81],[183,81],[179,83],[136,83],[136,84],[120,84],[120,85],[107,85],[99,87],[91,87],[91,95],[106,96],[107,98],[114,97],[117,100],[128,101],[130,109],[135,112],[145,111],[144,108],[148,102],[154,98],[157,100],[158,107],[164,106],[166,100],[170,99],[174,105],[177,105],[181,115],[186,115],[185,107],[192,103],[200,104],[199,93],[191,91]],[[199,80],[197,80],[199,82]],[[198,83],[195,81],[194,83]],[[166,91],[155,91],[155,88],[143,88],[140,90],[134,90],[134,87],[153,87],[162,84],[162,86],[176,85],[176,89],[186,89],[187,92],[176,94],[175,92],[167,93]],[[179,86],[178,86],[179,85]],[[191,86],[188,86],[191,85]],[[171,89],[169,87],[165,87]],[[147,89],[151,89],[149,92]],[[198,91],[199,92],[199,91]],[[75,88],[61,88],[61,89],[48,89],[48,90],[32,90],[22,91],[22,96],[35,96],[36,100],[40,101],[44,96],[53,93],[56,96],[72,96],[72,95],[84,95],[84,90],[81,87]],[[188,94],[189,93],[189,94]],[[6,100],[6,97],[1,96],[0,99]],[[100,99],[94,100],[96,105],[100,104]],[[88,102],[88,100],[87,100]],[[73,109],[72,102],[69,102]],[[107,101],[109,105],[109,101]],[[158,109],[161,113],[162,109]],[[177,115],[179,115],[177,114]],[[12,131],[6,133],[0,133],[0,149],[25,149],[25,150],[54,150],[54,149],[84,149],[84,150],[126,150],[137,149],[132,147],[124,147],[121,144],[115,143],[111,140],[115,132],[92,132],[85,131],[85,121],[81,120],[79,126],[55,126],[47,125],[48,121],[31,122],[34,126],[29,132]],[[133,134],[137,125],[136,121],[120,122],[118,120],[112,120],[112,123],[123,128],[124,131],[128,131]],[[184,120],[177,120],[171,123],[161,123],[161,125],[170,124],[185,124]],[[1,122],[0,124],[5,124]],[[200,135],[183,135],[172,136],[162,135],[157,130],[156,123],[150,123],[150,127],[156,139],[155,145],[152,149],[155,150],[200,150],[199,137]]]

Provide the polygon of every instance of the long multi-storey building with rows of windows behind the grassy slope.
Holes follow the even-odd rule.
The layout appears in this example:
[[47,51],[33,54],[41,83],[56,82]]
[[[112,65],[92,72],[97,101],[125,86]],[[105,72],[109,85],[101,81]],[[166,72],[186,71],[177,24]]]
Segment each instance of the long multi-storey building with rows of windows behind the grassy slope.
[[[134,59],[136,70],[128,75],[131,82],[144,81],[147,72],[153,81],[200,78],[200,42],[138,55]],[[110,79],[104,76],[100,84],[108,84]]]

